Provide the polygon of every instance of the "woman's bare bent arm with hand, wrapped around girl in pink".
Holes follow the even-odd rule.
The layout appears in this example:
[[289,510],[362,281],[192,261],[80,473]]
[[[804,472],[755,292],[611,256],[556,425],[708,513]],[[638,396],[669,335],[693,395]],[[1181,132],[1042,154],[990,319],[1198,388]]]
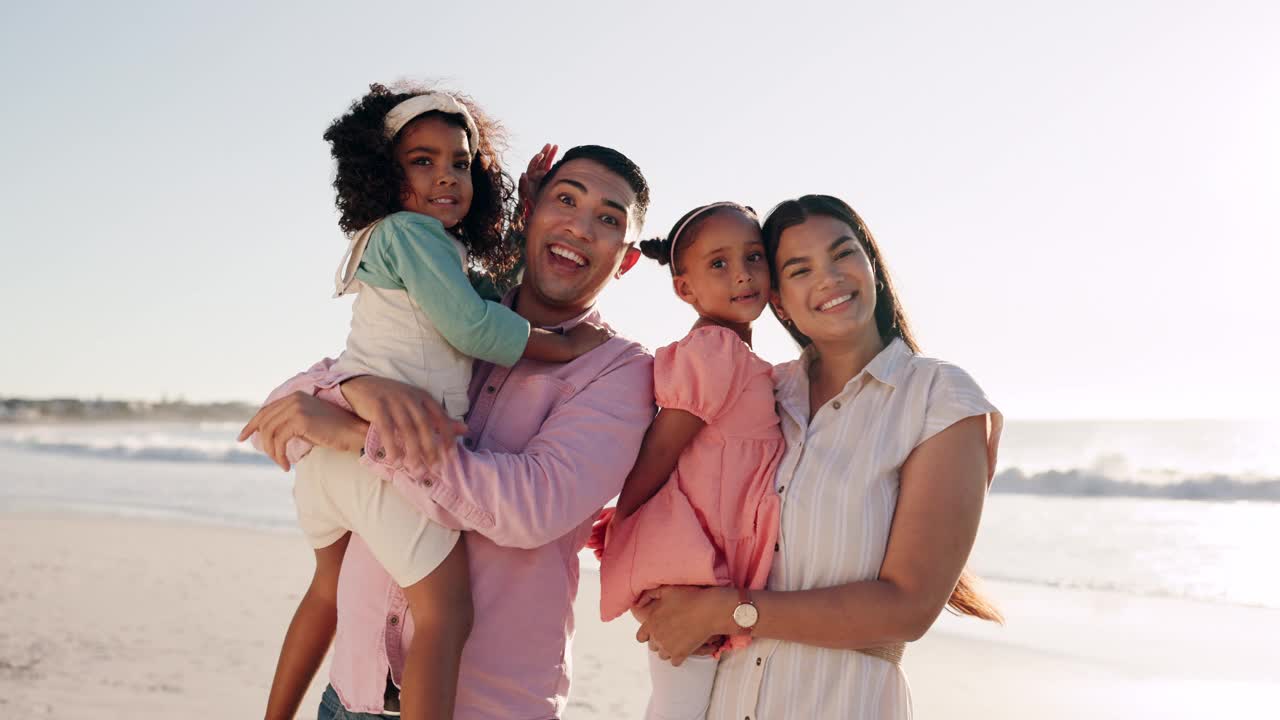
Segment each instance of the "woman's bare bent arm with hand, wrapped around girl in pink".
[[[879,578],[755,592],[753,634],[841,650],[919,639],[946,606],[973,548],[988,477],[987,416],[960,420],[922,443],[902,465]],[[713,635],[740,632],[732,588],[659,588],[643,601],[649,616],[636,639],[672,661]]]

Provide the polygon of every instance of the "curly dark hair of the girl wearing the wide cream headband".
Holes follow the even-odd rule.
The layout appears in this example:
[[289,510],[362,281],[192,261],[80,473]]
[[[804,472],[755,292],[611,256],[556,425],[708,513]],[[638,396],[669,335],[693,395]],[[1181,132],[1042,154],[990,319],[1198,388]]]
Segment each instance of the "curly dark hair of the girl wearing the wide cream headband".
[[[392,108],[428,91],[415,86],[389,90],[381,85],[370,85],[369,94],[356,100],[347,114],[335,119],[325,131],[324,138],[338,163],[333,187],[338,191],[338,227],[344,232],[356,232],[403,209],[401,193],[404,170],[396,161],[399,135],[388,140],[383,129],[384,122]],[[507,238],[507,224],[516,196],[516,184],[503,170],[500,161],[507,133],[474,100],[466,95],[451,95],[466,106],[480,133],[480,137],[467,138],[476,151],[471,163],[471,209],[458,227],[451,229],[458,234],[472,260],[490,275],[500,275],[516,265],[520,255],[518,247]],[[426,114],[439,115],[466,129],[461,115],[439,111]]]

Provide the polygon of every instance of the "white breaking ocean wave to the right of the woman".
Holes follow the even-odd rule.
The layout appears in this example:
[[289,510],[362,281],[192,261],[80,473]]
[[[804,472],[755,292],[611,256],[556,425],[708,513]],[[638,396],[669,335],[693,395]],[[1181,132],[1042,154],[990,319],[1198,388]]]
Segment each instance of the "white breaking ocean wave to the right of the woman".
[[1097,470],[1047,470],[1027,474],[1019,468],[1011,468],[996,474],[991,492],[1065,497],[1280,502],[1280,479],[1210,474],[1167,483],[1144,483],[1117,479]]

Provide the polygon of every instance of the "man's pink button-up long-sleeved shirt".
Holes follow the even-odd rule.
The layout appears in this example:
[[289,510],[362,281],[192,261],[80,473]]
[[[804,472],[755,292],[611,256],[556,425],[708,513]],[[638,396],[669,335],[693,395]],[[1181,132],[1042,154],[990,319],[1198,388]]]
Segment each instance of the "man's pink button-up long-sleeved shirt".
[[[594,310],[570,320],[571,328]],[[273,393],[339,402],[320,363]],[[614,337],[572,363],[477,363],[465,448],[420,473],[365,459],[429,518],[466,536],[475,625],[462,653],[457,720],[558,717],[568,700],[579,561],[600,507],[622,489],[653,420],[653,357]],[[293,452],[291,452],[292,455]],[[343,705],[381,712],[404,667],[412,618],[399,587],[353,537],[338,582],[330,683]]]

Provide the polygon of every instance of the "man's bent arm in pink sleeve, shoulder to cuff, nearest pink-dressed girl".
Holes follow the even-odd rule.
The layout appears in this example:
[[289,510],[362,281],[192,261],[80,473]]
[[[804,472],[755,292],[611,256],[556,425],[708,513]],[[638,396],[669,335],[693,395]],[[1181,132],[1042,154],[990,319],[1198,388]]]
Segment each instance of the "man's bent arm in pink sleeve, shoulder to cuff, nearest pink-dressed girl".
[[498,544],[540,547],[618,495],[653,413],[653,359],[634,350],[556,407],[520,454],[458,450],[410,473],[371,429],[365,461],[429,515],[435,503]]

